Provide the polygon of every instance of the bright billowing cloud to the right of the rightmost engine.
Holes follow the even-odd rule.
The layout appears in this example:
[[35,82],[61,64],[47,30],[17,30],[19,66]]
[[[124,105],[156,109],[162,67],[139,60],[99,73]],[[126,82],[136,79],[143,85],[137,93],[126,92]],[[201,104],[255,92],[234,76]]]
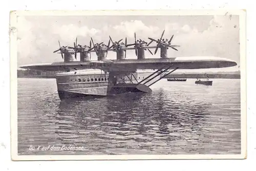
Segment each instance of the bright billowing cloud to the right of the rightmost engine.
[[238,25],[237,22],[238,20],[230,21],[228,17],[215,16],[209,22],[207,30],[198,32],[194,28],[187,34],[177,35],[175,42],[182,46],[179,55],[218,56],[239,60],[239,28],[233,27]]

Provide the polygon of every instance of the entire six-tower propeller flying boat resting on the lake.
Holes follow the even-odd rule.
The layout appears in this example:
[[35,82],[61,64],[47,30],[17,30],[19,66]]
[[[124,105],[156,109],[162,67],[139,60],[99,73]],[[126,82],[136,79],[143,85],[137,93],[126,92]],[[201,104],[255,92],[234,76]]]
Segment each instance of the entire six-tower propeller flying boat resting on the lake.
[[[91,38],[90,45],[77,45],[74,47],[60,46],[54,53],[59,52],[64,62],[51,64],[36,64],[19,66],[21,68],[37,70],[66,70],[56,74],[56,83],[59,98],[70,99],[87,96],[109,96],[127,92],[151,92],[150,88],[162,78],[172,74],[177,69],[202,69],[223,68],[236,66],[235,61],[218,57],[176,57],[168,58],[167,50],[178,51],[179,45],[173,45],[172,40],[163,39],[164,31],[160,39],[148,38],[136,39],[127,44],[125,42],[110,40],[108,44],[94,43]],[[156,45],[151,45],[153,42]],[[150,49],[155,48],[154,54],[160,48],[160,58],[145,58],[145,51],[153,55]],[[126,51],[135,50],[137,59],[126,59]],[[116,52],[115,60],[108,60],[108,52]],[[91,52],[95,52],[97,60],[91,60]],[[75,61],[77,53],[80,53],[80,61]],[[72,56],[74,55],[74,57]],[[148,71],[150,70],[150,71]]]

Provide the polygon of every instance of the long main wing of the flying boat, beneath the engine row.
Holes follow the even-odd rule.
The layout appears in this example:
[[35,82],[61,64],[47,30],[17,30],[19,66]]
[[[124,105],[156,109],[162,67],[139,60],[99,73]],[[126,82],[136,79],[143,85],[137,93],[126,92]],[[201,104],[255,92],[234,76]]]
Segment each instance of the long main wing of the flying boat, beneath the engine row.
[[177,57],[177,58],[152,58],[152,59],[124,59],[102,61],[71,61],[55,62],[52,64],[24,65],[20,68],[37,70],[66,70],[66,69],[102,69],[105,71],[134,71],[136,69],[203,69],[223,68],[236,66],[235,61],[219,57]]

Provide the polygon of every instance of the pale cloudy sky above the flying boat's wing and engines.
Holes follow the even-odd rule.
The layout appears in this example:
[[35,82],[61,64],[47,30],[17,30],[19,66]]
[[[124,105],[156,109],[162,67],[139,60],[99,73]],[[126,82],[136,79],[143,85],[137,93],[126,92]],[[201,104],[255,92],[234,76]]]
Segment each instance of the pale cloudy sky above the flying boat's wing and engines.
[[[58,40],[61,46],[73,46],[77,37],[78,44],[89,45],[92,37],[107,44],[110,35],[114,41],[127,37],[133,43],[136,32],[137,39],[149,42],[148,37],[160,38],[163,30],[163,38],[174,34],[173,44],[181,45],[178,52],[168,50],[168,57],[216,56],[240,65],[239,16],[18,16],[17,22],[18,65],[62,61],[53,53]],[[146,58],[159,58],[159,52],[145,52]],[[110,52],[108,58],[116,54]],[[127,58],[136,58],[135,51],[127,52]]]

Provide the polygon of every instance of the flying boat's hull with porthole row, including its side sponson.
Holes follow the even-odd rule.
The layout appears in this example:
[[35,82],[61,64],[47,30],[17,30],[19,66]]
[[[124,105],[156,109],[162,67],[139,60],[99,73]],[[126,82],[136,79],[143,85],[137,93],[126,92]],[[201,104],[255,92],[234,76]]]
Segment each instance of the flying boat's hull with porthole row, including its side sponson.
[[[127,76],[120,75],[116,82],[110,74],[90,74],[66,72],[56,75],[58,95],[61,100],[85,97],[104,97],[123,94],[128,92],[151,92],[147,86],[160,76],[148,82],[148,84],[138,84],[138,82],[151,75],[153,72],[134,72]],[[147,79],[148,80],[148,79]],[[146,81],[146,80],[145,80]]]

